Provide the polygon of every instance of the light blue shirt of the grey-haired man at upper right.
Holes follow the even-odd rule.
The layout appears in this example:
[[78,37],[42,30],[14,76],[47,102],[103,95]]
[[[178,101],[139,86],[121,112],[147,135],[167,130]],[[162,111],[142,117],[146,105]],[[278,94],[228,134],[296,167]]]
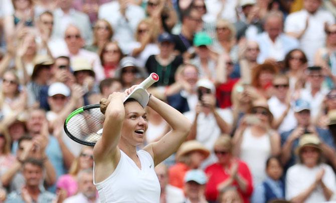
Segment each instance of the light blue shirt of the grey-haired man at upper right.
[[295,38],[283,33],[276,38],[275,42],[269,38],[266,32],[257,35],[255,41],[259,44],[260,54],[257,61],[260,64],[267,58],[282,61],[289,51],[299,47],[299,42]]

